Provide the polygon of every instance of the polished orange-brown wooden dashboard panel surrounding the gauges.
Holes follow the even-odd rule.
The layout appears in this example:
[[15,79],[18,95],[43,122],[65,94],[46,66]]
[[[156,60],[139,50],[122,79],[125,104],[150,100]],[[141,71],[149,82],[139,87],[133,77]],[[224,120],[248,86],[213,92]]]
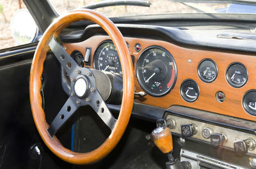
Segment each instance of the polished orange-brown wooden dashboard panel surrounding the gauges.
[[[71,54],[74,50],[79,50],[82,54],[85,54],[86,47],[90,47],[92,48],[93,56],[99,44],[102,43],[102,41],[107,40],[110,40],[109,36],[92,36],[91,38],[79,43],[65,43],[63,45],[67,47],[68,54]],[[136,77],[134,82],[136,92],[144,91],[136,76],[136,65],[138,58],[146,48],[157,46],[166,49],[172,55],[177,67],[177,79],[175,85],[170,91],[168,91],[168,93],[160,97],[152,96],[150,94],[147,94],[147,96],[144,97],[136,96],[135,101],[137,103],[143,103],[160,108],[169,108],[173,105],[179,105],[256,121],[256,117],[252,113],[248,114],[243,106],[244,94],[247,94],[248,91],[255,89],[256,73],[253,71],[256,70],[256,65],[254,64],[256,62],[255,55],[200,50],[188,47],[185,48],[167,41],[150,40],[146,38],[125,38],[125,41],[127,41],[129,44],[130,54],[134,56],[134,77]],[[141,46],[140,51],[138,51],[136,48],[136,45],[138,44]],[[202,63],[202,61],[205,61],[205,59],[216,64],[217,69],[213,70],[215,71],[216,75],[210,78],[208,77],[208,80],[211,82],[205,82],[202,80],[202,77],[200,78],[200,73],[198,73],[198,66]],[[91,58],[90,63],[90,67],[93,68],[93,58]],[[243,68],[245,68],[244,70],[246,70],[246,80],[244,81],[243,85],[238,83],[239,87],[232,85],[232,83],[230,84],[226,78],[228,75],[227,69],[230,68],[230,65],[233,65],[234,63],[242,65]],[[207,66],[202,68],[203,76],[206,69]],[[212,71],[212,68],[209,69]],[[230,72],[230,75],[233,76],[234,71]],[[209,72],[207,71],[206,73]],[[242,72],[236,73],[234,77],[230,77],[230,80],[234,79],[235,76],[237,80],[239,78],[237,76],[242,74],[244,75]],[[191,80],[198,86],[198,96],[196,96],[197,98],[193,101],[186,101],[180,92],[180,87],[186,80]],[[216,99],[220,97],[222,98]],[[256,98],[254,99],[256,101]],[[245,107],[248,108],[251,104],[250,106],[255,108],[254,99],[248,99],[248,104],[246,103],[247,107],[246,104]],[[254,105],[252,105],[253,102]]]

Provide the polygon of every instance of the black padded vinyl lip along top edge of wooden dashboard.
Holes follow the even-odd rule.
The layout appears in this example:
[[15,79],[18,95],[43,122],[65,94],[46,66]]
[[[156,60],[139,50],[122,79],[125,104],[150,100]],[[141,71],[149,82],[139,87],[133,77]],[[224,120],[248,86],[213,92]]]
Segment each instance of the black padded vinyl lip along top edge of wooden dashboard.
[[[182,29],[163,26],[145,26],[134,24],[116,24],[123,36],[132,38],[147,38],[152,40],[163,40],[175,45],[187,48],[200,48],[203,50],[227,50],[228,52],[247,52],[255,54],[256,48],[252,41],[233,40],[225,38],[206,39],[191,36]],[[92,36],[107,35],[106,32],[97,25],[92,25],[84,29],[83,34],[68,34],[62,36],[65,43],[75,43],[84,41]],[[232,44],[232,45],[230,45]]]

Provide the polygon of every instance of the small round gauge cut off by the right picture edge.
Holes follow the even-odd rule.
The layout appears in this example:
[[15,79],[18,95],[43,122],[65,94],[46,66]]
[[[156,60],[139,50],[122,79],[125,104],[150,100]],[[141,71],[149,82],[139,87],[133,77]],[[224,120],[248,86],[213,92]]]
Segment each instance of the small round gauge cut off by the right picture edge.
[[256,115],[256,90],[250,90],[244,94],[243,107],[248,114]]

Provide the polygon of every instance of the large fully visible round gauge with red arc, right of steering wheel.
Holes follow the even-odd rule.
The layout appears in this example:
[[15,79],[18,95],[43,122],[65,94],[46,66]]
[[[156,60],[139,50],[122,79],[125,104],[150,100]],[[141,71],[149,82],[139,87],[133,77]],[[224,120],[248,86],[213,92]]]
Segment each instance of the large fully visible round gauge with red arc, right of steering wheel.
[[136,75],[142,89],[151,96],[163,96],[175,84],[177,69],[175,61],[162,47],[148,47],[136,64]]

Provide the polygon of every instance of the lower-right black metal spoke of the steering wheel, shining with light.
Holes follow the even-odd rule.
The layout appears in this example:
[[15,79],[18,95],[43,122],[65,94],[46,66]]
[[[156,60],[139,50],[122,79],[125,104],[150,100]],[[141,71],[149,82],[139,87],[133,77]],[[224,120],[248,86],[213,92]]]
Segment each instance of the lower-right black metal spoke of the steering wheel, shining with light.
[[115,123],[116,123],[115,117],[111,114],[104,99],[102,99],[102,97],[98,91],[95,91],[95,92],[91,93],[90,95],[92,98],[90,106],[99,115],[100,119],[102,119],[102,121],[112,131],[113,128],[115,127]]

